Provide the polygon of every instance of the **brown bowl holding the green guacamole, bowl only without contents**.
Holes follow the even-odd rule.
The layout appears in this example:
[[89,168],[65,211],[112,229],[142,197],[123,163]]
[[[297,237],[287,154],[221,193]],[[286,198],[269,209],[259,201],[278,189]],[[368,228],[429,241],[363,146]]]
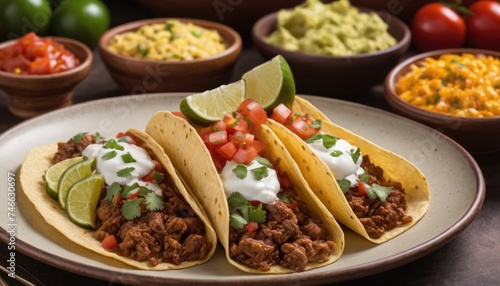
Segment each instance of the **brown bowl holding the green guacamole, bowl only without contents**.
[[[362,12],[373,11],[359,8]],[[255,47],[267,60],[281,54],[290,65],[298,93],[348,98],[368,92],[382,84],[387,73],[397,64],[410,46],[411,33],[398,18],[380,12],[389,24],[389,33],[396,38],[396,45],[374,53],[349,57],[309,55],[282,49],[265,41],[276,29],[277,12],[261,18],[252,29]]]

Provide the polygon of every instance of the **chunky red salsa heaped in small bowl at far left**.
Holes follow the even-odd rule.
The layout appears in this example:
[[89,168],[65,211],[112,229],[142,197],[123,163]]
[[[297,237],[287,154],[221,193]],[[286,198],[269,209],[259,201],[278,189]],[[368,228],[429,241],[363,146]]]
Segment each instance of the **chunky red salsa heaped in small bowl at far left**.
[[15,74],[54,74],[78,65],[78,58],[63,45],[34,33],[0,50],[0,70]]

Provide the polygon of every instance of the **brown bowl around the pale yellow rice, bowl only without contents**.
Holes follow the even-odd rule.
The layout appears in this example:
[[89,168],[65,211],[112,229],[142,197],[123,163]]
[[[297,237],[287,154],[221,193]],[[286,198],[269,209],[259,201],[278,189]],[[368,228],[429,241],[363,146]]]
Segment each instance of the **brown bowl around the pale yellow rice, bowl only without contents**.
[[242,41],[233,29],[219,23],[187,18],[171,18],[219,31],[228,47],[205,59],[186,61],[143,60],[113,53],[109,42],[114,35],[143,25],[163,23],[167,18],[140,20],[108,30],[99,40],[99,53],[113,80],[129,94],[153,92],[194,92],[227,83],[239,58]]

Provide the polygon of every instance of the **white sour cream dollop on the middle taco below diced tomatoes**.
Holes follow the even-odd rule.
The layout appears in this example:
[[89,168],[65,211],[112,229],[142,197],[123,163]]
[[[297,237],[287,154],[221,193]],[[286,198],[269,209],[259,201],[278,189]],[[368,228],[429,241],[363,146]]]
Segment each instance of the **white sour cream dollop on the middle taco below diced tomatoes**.
[[[278,199],[280,183],[276,170],[254,159],[250,164],[244,165],[247,169],[246,176],[239,178],[233,171],[238,165],[240,164],[228,161],[220,173],[226,197],[231,196],[234,192],[239,192],[249,201],[260,201],[264,204],[273,203]],[[252,170],[261,167],[267,168],[267,176],[257,180],[252,175]]]

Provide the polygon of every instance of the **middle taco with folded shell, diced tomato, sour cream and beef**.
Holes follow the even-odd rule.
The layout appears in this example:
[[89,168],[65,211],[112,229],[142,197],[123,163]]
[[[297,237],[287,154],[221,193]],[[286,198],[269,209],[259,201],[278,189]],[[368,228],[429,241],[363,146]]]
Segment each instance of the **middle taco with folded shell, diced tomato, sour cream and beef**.
[[249,118],[234,112],[195,129],[162,111],[150,119],[146,132],[198,197],[232,265],[268,274],[335,262],[344,249],[342,229],[311,192],[281,141]]

